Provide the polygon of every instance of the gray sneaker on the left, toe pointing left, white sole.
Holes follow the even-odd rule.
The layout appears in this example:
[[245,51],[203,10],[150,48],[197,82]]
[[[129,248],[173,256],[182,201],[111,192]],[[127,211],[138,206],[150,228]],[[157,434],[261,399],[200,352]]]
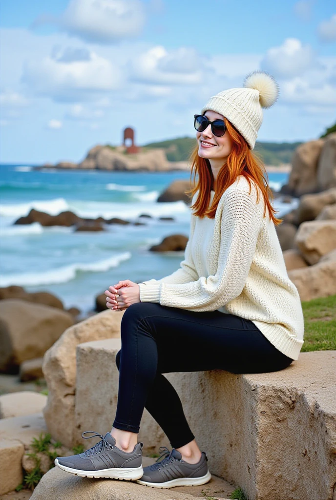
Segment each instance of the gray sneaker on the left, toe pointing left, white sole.
[[[85,437],[86,432],[92,435]],[[55,465],[81,477],[131,480],[142,476],[142,442],[136,443],[133,451],[127,453],[115,446],[116,441],[109,432],[102,436],[98,432],[86,430],[81,435],[84,439],[98,436],[101,440],[78,455],[57,456]]]

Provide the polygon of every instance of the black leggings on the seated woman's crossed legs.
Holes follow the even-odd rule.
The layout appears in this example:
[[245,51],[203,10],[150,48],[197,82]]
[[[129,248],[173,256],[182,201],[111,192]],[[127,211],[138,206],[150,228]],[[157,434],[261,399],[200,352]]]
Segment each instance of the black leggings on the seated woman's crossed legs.
[[194,312],[137,302],[121,319],[118,402],[113,427],[138,432],[143,408],[178,448],[194,439],[177,392],[162,373],[219,368],[262,373],[292,359],[274,347],[249,319],[215,310]]

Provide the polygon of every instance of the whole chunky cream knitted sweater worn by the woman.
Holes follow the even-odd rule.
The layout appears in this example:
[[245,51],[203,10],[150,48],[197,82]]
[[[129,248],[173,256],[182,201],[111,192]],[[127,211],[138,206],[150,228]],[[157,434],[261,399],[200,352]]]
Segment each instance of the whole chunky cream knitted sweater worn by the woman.
[[263,216],[263,195],[259,189],[256,202],[251,184],[249,194],[239,175],[222,194],[213,219],[191,213],[179,269],[139,283],[140,301],[250,319],[278,350],[297,359],[304,331],[301,301],[267,210]]

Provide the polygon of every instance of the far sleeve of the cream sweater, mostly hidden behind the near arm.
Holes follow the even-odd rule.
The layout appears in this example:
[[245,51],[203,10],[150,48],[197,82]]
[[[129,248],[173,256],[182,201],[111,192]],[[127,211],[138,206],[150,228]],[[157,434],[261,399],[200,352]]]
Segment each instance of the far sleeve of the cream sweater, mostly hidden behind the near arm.
[[142,283],[138,283],[140,290],[142,289],[140,286],[142,284],[145,285],[148,285],[150,283],[181,284],[181,283],[188,283],[189,281],[194,281],[195,279],[198,279],[198,274],[196,272],[195,264],[192,260],[192,255],[191,255],[191,239],[194,226],[195,226],[195,216],[191,213],[189,239],[185,246],[184,259],[180,262],[179,268],[176,269],[171,274],[168,274],[168,276],[164,276],[163,278],[149,279],[147,281],[142,281]]

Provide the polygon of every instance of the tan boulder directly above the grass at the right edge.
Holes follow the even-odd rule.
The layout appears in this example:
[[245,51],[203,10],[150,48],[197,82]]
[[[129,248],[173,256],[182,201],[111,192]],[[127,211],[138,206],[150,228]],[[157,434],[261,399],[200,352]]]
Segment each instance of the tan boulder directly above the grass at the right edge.
[[336,294],[336,252],[327,253],[317,264],[288,272],[301,300]]

